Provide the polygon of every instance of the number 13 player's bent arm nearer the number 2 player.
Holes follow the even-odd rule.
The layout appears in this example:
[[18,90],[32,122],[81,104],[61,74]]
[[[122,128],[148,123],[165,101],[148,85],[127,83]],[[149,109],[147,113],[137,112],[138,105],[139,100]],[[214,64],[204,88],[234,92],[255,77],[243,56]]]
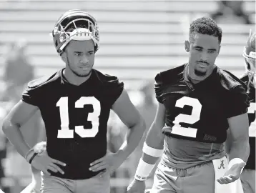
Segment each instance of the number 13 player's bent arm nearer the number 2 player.
[[112,172],[131,154],[142,139],[145,130],[145,123],[142,116],[129,99],[127,91],[123,90],[120,97],[114,102],[112,109],[129,128],[122,147],[116,152],[108,152],[105,157],[92,162],[90,170],[97,172],[108,169]]

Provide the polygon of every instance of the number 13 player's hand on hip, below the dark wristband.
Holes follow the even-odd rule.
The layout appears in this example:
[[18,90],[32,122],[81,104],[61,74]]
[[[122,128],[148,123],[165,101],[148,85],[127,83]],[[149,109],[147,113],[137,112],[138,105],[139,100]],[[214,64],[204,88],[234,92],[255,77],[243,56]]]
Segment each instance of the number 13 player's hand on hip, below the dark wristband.
[[39,169],[45,174],[49,175],[51,175],[51,173],[48,170],[50,170],[51,172],[60,172],[61,174],[64,174],[64,171],[58,165],[66,166],[65,163],[49,157],[47,152],[37,154],[36,157],[34,157],[34,159],[32,160],[31,165],[34,168]]

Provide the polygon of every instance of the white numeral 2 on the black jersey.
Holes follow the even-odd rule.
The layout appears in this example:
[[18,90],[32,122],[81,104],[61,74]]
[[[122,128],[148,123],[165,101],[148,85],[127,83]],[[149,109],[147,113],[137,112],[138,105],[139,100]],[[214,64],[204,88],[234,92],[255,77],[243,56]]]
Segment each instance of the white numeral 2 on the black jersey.
[[190,97],[182,97],[177,100],[175,107],[183,108],[185,105],[192,107],[191,114],[178,114],[175,117],[172,127],[172,134],[177,134],[185,137],[197,137],[197,129],[192,127],[181,127],[179,123],[195,124],[200,120],[200,114],[202,109],[202,104],[200,104],[198,99]]

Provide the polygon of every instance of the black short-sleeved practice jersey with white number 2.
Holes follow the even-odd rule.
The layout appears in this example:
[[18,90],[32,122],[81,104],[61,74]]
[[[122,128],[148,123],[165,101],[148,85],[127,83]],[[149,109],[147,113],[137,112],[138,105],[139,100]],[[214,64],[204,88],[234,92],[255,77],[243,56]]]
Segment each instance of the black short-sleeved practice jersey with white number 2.
[[155,77],[157,100],[166,109],[162,132],[178,139],[223,143],[227,118],[244,114],[249,107],[246,85],[217,66],[207,79],[192,84],[187,67],[184,64]]

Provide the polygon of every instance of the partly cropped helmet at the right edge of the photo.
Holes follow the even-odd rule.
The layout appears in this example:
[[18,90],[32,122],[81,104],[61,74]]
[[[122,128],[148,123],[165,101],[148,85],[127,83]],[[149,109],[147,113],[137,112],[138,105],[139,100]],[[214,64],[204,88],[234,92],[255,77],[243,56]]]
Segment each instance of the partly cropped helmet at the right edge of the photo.
[[255,52],[255,36],[256,32],[252,32],[250,29],[249,38],[247,39],[246,46],[244,48],[244,52],[242,56],[245,58],[246,63],[246,71],[252,76],[255,75],[255,60],[256,60],[256,52]]

